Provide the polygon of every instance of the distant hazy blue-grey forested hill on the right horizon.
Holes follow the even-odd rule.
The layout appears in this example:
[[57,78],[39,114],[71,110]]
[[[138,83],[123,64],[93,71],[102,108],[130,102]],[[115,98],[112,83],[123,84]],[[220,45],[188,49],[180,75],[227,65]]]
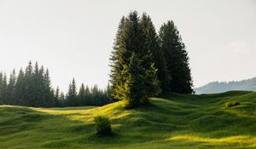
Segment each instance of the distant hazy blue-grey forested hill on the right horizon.
[[256,77],[241,80],[241,81],[231,81],[231,82],[212,82],[206,85],[195,88],[195,94],[212,94],[212,93],[222,93],[230,90],[249,90],[256,91]]

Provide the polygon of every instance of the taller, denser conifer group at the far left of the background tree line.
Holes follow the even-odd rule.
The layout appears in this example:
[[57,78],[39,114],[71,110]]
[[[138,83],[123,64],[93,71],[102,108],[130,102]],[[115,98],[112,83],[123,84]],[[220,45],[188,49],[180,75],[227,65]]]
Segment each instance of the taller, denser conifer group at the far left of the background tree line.
[[51,88],[49,71],[38,63],[28,63],[25,71],[20,68],[10,74],[0,72],[0,104],[20,106],[55,106],[54,89]]

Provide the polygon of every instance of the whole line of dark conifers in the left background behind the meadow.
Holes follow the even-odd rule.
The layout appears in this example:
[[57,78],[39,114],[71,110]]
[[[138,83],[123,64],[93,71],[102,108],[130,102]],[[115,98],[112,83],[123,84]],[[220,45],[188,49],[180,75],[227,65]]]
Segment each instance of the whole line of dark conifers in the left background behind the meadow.
[[20,68],[16,75],[15,70],[9,78],[0,72],[0,105],[15,106],[102,106],[112,102],[109,98],[110,87],[100,89],[97,85],[89,88],[82,83],[77,91],[75,79],[69,84],[67,95],[57,87],[53,89],[50,83],[49,70],[32,66],[29,61],[26,69]]

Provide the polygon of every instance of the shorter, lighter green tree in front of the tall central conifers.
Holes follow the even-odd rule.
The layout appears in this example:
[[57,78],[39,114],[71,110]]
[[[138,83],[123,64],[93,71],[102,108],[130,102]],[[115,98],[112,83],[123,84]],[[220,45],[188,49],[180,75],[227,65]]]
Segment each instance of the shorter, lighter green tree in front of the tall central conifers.
[[126,107],[133,108],[148,103],[148,97],[160,93],[159,81],[156,77],[157,70],[154,64],[150,68],[143,67],[143,60],[137,54],[131,55],[129,66],[123,71],[126,77],[125,84],[120,91],[126,100]]

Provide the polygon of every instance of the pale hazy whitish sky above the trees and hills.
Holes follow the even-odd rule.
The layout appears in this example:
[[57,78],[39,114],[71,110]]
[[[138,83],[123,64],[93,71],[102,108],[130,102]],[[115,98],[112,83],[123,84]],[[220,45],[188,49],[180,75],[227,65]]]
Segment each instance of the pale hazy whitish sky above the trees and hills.
[[0,71],[32,60],[62,91],[73,77],[104,88],[119,20],[132,10],[149,14],[157,31],[174,21],[195,87],[256,77],[253,0],[0,0]]

